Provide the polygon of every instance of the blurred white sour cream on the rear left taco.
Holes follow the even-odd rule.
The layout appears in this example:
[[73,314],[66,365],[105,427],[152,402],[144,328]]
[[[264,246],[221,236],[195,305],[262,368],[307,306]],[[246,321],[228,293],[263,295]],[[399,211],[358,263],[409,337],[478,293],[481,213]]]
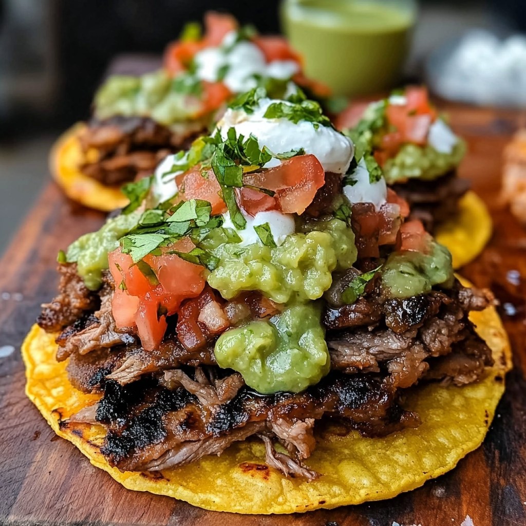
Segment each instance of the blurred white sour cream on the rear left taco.
[[257,86],[255,75],[286,80],[299,72],[299,64],[294,60],[273,60],[267,63],[261,49],[252,42],[241,41],[236,44],[237,32],[225,35],[219,47],[209,47],[194,57],[196,76],[208,82],[220,80],[232,93],[246,92]]

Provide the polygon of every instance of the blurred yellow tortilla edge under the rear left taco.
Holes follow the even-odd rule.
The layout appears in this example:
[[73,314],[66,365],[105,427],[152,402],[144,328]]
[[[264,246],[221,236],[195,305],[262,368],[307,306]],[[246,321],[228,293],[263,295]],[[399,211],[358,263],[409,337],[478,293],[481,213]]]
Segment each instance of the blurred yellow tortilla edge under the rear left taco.
[[78,135],[84,128],[85,124],[76,124],[53,145],[49,155],[49,169],[54,179],[70,199],[89,208],[110,212],[126,206],[128,199],[118,186],[103,185],[79,170],[86,159],[93,157],[95,160],[97,156],[96,150],[84,153],[80,147]]

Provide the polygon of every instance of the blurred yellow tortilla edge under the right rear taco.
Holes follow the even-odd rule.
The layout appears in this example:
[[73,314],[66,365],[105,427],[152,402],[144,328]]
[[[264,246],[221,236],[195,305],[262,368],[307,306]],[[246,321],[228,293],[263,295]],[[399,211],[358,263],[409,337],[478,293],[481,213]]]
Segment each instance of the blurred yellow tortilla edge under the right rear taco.
[[484,249],[493,224],[484,201],[468,191],[459,201],[459,214],[438,226],[434,237],[453,257],[453,268],[467,265]]

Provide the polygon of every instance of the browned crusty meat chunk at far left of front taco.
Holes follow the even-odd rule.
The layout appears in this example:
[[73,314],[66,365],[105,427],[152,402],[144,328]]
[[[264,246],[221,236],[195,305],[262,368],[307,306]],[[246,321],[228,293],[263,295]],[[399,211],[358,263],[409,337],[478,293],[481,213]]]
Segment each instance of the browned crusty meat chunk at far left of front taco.
[[84,285],[77,274],[76,263],[60,263],[58,272],[58,296],[42,305],[42,312],[37,318],[38,325],[46,332],[62,330],[100,306],[98,296]]

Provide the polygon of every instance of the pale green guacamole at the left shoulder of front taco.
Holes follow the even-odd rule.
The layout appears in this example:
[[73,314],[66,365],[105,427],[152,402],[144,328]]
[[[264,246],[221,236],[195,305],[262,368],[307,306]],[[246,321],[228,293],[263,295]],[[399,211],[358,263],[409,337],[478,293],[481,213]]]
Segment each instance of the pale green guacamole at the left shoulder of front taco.
[[102,271],[108,268],[108,254],[119,246],[119,239],[134,228],[140,218],[139,211],[108,219],[96,232],[80,236],[69,245],[66,261],[77,263],[77,272],[86,287],[97,290],[102,284]]

